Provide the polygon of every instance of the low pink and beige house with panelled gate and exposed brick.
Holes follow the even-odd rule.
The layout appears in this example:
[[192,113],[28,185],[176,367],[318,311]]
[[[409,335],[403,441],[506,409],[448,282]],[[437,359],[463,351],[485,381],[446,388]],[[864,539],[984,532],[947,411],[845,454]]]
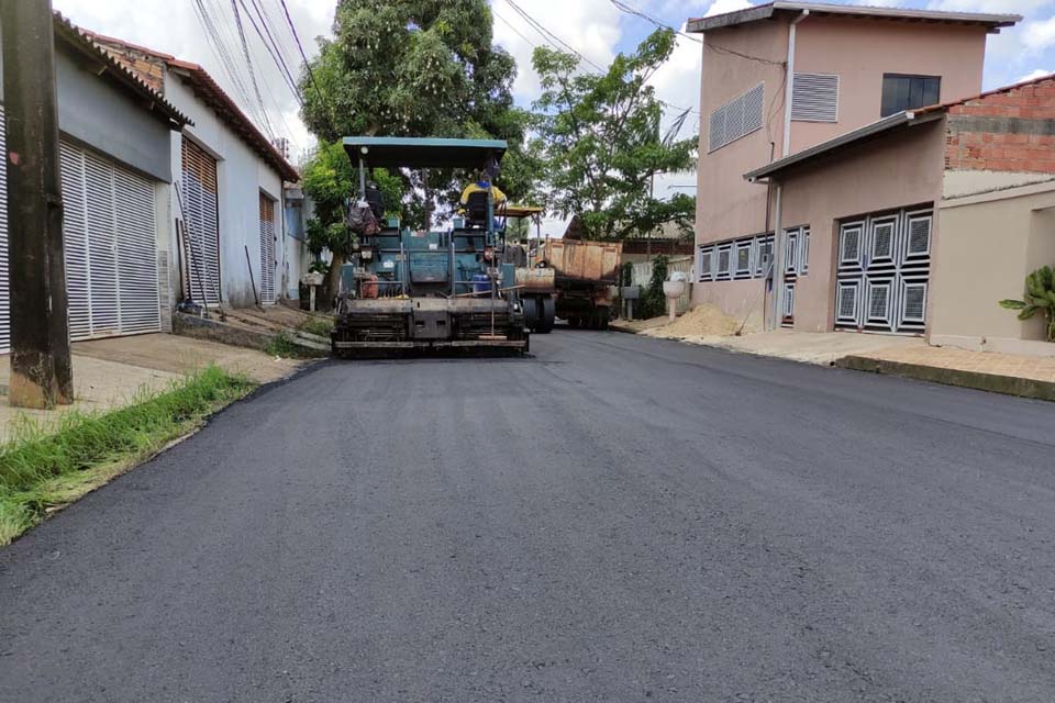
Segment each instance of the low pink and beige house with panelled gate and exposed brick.
[[1053,147],[1055,76],[900,112],[748,172],[779,191],[778,227],[831,235],[814,237],[820,294],[792,299],[800,278],[785,299],[796,326],[1055,354],[1040,316],[998,305],[1055,264]]

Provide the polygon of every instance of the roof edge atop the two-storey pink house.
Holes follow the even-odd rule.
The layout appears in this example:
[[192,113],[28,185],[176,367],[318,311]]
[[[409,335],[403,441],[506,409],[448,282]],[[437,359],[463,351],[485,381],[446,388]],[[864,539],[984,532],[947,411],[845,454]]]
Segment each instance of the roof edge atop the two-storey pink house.
[[709,18],[690,19],[689,32],[709,32],[759,20],[768,20],[779,12],[803,12],[817,15],[845,15],[880,20],[903,20],[909,22],[936,22],[952,24],[978,24],[990,32],[1013,26],[1022,21],[1020,14],[993,14],[984,12],[943,12],[939,10],[913,10],[907,8],[879,8],[870,5],[846,5],[826,2],[769,2],[745,10],[725,12]]

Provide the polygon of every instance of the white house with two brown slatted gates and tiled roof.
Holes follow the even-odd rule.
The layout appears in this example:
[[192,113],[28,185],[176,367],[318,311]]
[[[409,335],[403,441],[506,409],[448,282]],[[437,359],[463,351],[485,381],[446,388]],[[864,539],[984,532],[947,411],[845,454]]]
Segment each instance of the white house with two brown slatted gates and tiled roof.
[[297,170],[198,64],[92,38],[193,122],[168,142],[174,297],[232,308],[296,297],[307,244],[288,233],[284,193]]

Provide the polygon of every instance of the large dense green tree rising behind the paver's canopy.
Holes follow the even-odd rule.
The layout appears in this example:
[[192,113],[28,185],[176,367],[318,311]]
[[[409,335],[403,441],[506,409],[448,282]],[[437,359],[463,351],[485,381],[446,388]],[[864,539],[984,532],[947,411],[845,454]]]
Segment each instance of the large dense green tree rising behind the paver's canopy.
[[[530,192],[524,154],[531,115],[513,107],[512,56],[492,43],[487,0],[341,0],[334,38],[300,80],[302,116],[326,142],[348,135],[500,138],[510,143],[498,185]],[[469,174],[403,174],[402,216],[451,208]]]

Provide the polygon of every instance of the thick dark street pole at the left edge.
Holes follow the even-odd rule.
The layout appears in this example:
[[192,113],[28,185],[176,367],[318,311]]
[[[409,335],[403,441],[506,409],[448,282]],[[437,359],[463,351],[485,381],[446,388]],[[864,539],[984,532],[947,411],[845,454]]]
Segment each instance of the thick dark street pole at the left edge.
[[74,400],[51,0],[0,0],[7,120],[11,405]]

